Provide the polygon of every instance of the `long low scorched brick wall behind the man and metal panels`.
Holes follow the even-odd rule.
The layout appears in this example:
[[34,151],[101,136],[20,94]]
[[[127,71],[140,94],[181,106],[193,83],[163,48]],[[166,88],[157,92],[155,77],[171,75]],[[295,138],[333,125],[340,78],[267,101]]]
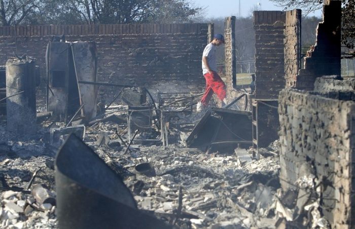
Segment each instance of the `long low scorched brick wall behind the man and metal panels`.
[[[201,92],[204,79],[201,55],[208,24],[119,24],[18,26],[17,48],[37,58],[46,77],[46,47],[53,35],[69,42],[94,41],[98,81],[147,87],[155,92]],[[0,65],[16,52],[15,28],[0,27]],[[44,83],[38,104],[45,103]],[[99,87],[100,98],[110,101],[117,88]]]

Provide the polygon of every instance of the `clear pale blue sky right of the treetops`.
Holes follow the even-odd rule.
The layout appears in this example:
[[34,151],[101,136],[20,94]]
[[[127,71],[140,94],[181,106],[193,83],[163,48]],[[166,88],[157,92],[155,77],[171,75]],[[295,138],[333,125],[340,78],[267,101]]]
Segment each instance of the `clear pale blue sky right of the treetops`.
[[[274,3],[268,0],[240,0],[240,15],[239,0],[190,0],[196,7],[207,7],[206,17],[228,17],[241,16],[247,17],[251,14],[255,6],[259,6],[260,10],[283,10],[280,7],[274,6]],[[322,10],[318,10],[309,16],[322,16]]]

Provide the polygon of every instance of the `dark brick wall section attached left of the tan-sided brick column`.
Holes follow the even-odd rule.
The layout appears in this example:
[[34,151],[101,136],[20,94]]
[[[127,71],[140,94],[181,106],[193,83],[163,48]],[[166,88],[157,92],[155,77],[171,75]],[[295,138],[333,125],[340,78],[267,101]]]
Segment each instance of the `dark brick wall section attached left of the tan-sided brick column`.
[[282,11],[254,12],[256,99],[276,99],[285,88],[285,22]]

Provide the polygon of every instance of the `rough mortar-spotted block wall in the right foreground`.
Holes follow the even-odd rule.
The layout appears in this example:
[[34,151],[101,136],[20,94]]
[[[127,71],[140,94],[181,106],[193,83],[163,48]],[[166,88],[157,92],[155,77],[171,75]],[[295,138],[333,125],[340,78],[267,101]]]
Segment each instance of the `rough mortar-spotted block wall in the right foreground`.
[[318,95],[285,89],[279,96],[281,186],[295,188],[304,172],[300,168],[313,167],[331,228],[351,228],[355,215],[353,100],[352,92]]

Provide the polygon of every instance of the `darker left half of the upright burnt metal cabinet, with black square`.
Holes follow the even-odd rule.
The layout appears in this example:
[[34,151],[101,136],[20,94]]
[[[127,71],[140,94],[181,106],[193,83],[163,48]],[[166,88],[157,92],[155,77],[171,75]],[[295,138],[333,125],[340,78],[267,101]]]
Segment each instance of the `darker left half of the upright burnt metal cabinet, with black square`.
[[66,121],[69,78],[69,43],[50,42],[47,46],[47,111],[60,122]]

